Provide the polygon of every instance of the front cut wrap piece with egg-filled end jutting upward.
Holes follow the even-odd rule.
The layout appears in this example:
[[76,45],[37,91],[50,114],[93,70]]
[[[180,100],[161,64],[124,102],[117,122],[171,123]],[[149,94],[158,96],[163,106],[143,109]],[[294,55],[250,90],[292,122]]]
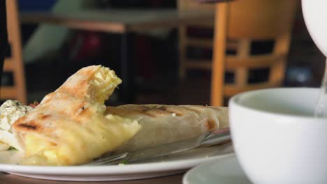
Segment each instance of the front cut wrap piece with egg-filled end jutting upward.
[[72,165],[112,151],[140,130],[135,120],[103,113],[122,81],[101,66],[82,68],[13,124],[22,164]]

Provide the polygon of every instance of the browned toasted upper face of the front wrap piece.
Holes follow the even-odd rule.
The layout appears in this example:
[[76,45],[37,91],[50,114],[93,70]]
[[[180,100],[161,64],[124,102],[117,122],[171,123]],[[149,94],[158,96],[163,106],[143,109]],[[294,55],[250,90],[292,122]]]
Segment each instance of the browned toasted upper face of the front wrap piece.
[[[15,132],[35,132],[44,133],[54,131],[52,123],[58,124],[58,121],[52,115],[54,111],[57,116],[71,118],[78,123],[85,121],[85,118],[91,116],[91,112],[88,108],[84,108],[87,104],[85,96],[89,89],[89,79],[94,72],[99,70],[100,66],[92,66],[79,70],[78,72],[66,80],[66,82],[53,93],[49,93],[45,96],[44,100],[38,105],[32,112],[26,116],[19,118],[14,124],[13,129]],[[75,100],[77,99],[77,100]],[[60,105],[67,103],[67,109],[56,109],[56,100],[61,100]],[[74,101],[73,105],[70,105],[70,101]],[[80,104],[78,102],[82,101]],[[41,111],[41,109],[43,111]],[[44,111],[45,110],[45,111]],[[50,113],[45,113],[50,112]],[[82,116],[81,116],[82,115]]]

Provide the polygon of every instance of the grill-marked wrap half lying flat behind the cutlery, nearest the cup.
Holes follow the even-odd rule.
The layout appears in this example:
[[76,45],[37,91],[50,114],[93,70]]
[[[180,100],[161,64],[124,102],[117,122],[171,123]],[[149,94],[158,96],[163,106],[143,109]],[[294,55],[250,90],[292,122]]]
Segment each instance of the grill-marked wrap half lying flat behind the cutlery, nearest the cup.
[[106,114],[138,120],[142,129],[117,152],[190,139],[207,130],[228,127],[228,108],[200,105],[122,105]]

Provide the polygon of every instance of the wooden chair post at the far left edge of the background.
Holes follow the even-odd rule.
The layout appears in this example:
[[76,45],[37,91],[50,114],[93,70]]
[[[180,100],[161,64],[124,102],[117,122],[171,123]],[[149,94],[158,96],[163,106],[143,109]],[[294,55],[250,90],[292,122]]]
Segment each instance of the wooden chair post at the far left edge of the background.
[[20,23],[16,0],[6,0],[8,42],[10,44],[11,56],[6,58],[3,72],[13,73],[13,86],[1,86],[0,99],[20,100],[27,103],[25,89],[24,68],[22,62],[22,45],[20,39]]

